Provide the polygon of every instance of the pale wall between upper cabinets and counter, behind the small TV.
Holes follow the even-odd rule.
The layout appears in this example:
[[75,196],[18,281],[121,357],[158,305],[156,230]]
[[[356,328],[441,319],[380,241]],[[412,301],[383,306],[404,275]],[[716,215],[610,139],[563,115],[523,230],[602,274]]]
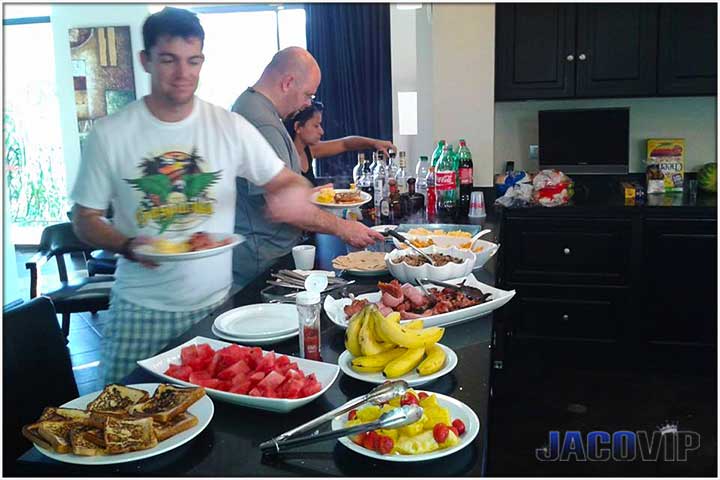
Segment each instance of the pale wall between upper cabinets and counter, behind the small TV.
[[[495,104],[495,171],[514,161],[516,170],[537,170],[528,146],[538,142],[538,110],[630,107],[631,173],[645,171],[648,138],[684,138],[685,170],[717,161],[717,98],[634,98],[498,102]],[[598,132],[598,140],[602,132]]]

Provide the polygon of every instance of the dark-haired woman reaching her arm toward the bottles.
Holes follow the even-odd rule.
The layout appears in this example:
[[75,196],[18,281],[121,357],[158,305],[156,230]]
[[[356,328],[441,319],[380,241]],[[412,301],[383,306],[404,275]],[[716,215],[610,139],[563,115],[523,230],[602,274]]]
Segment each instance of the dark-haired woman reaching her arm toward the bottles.
[[295,143],[295,148],[300,156],[300,167],[302,174],[315,184],[313,174],[313,159],[332,157],[345,152],[357,150],[380,150],[388,156],[388,150],[397,152],[397,147],[392,142],[377,140],[356,135],[338,138],[335,140],[322,141],[322,112],[323,104],[313,100],[312,104],[300,110],[285,122],[285,128]]

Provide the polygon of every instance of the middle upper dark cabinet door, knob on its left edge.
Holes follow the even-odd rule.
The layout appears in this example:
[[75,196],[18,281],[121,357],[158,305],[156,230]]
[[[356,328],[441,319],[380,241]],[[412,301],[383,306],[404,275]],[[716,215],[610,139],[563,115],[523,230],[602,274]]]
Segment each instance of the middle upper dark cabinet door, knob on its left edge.
[[657,6],[579,5],[576,52],[577,97],[653,95]]

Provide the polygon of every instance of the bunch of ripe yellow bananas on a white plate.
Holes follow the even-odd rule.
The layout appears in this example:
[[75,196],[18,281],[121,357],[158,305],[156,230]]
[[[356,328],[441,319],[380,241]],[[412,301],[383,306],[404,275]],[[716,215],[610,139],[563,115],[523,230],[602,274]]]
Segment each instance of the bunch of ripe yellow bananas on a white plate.
[[352,369],[361,373],[383,372],[397,378],[417,368],[430,375],[445,365],[445,351],[437,345],[445,329],[423,328],[422,320],[400,325],[400,314],[384,317],[374,305],[356,313],[345,332],[345,348],[354,357]]

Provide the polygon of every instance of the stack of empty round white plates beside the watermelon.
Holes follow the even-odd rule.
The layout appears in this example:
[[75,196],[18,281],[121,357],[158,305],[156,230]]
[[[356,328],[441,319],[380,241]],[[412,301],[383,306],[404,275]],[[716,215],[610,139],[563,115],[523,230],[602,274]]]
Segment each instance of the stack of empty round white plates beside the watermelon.
[[295,305],[258,303],[228,310],[215,319],[212,333],[242,345],[272,345],[298,334]]

